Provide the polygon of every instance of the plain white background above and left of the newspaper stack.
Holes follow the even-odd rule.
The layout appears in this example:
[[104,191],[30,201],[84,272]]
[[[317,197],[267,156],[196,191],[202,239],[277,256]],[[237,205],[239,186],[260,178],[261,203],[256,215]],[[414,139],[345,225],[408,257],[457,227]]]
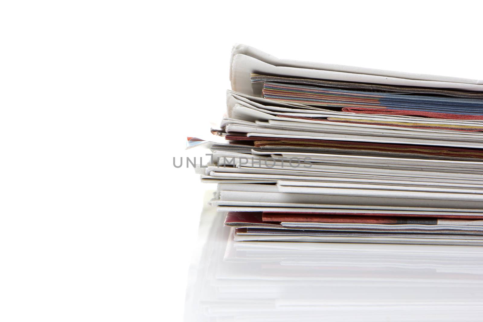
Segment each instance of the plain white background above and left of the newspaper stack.
[[340,2],[2,1],[0,320],[182,320],[233,43],[483,78],[481,1]]

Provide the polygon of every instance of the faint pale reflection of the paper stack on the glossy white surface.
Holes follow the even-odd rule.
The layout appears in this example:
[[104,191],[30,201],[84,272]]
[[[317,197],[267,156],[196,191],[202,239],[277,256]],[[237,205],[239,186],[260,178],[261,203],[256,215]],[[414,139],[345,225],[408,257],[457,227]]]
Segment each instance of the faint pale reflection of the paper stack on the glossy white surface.
[[481,321],[483,247],[234,241],[201,216],[185,321]]

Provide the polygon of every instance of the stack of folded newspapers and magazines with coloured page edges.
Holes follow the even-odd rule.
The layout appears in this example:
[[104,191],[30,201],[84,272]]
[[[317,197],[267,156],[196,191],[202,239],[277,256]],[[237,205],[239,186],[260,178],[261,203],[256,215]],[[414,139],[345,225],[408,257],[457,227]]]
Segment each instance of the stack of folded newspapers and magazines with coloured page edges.
[[483,81],[246,45],[230,81],[197,171],[235,240],[483,245]]

